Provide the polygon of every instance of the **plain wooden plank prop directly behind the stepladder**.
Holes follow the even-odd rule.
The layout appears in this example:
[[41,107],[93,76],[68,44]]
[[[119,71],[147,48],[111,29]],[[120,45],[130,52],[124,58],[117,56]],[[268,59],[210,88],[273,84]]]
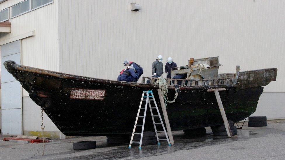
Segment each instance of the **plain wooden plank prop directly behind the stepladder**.
[[162,108],[162,112],[163,112],[164,122],[166,124],[166,129],[167,129],[167,133],[168,133],[168,137],[169,137],[169,142],[170,142],[171,145],[174,145],[174,140],[173,140],[171,127],[170,127],[169,120],[168,120],[168,115],[167,115],[167,112],[166,112],[164,98],[162,97],[160,89],[157,89],[157,92],[158,92],[158,96],[159,96],[159,100],[160,100],[160,104],[161,104],[161,108]]

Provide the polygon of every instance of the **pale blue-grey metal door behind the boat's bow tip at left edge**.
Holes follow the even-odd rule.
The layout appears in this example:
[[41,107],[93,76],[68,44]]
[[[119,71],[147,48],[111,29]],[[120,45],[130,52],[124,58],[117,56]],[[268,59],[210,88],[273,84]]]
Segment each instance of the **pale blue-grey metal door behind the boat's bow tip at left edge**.
[[21,40],[1,45],[2,135],[22,135],[22,87],[4,67],[8,60],[20,63]]

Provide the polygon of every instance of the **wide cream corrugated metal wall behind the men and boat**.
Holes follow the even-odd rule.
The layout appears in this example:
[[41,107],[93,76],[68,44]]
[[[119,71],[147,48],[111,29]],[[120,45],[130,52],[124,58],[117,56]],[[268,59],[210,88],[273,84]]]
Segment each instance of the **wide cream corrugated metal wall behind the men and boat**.
[[283,0],[61,0],[60,71],[116,80],[124,59],[150,76],[159,54],[178,66],[220,56],[220,73],[277,67],[265,91],[284,92],[284,8]]

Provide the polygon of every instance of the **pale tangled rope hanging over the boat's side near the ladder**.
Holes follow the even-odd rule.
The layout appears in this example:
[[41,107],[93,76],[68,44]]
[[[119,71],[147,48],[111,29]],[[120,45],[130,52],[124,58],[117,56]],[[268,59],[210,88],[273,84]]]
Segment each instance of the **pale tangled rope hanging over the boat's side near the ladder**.
[[[166,80],[162,77],[159,77],[159,80],[157,80],[156,82],[154,82],[154,84],[157,84],[159,85],[159,89],[161,90],[161,94],[162,96],[164,97],[164,103],[166,105],[166,102],[168,103],[173,103],[175,102],[175,99],[177,98],[178,96],[178,92],[180,91],[179,88],[175,88],[175,96],[174,96],[174,99],[173,101],[169,101],[168,100],[168,97],[167,97],[167,93],[168,93],[168,84],[166,82]],[[167,105],[166,105],[167,106]]]

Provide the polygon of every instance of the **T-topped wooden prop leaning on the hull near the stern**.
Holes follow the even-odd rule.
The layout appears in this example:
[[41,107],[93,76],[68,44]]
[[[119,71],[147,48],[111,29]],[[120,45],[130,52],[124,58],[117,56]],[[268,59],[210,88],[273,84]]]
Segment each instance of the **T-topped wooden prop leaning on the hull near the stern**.
[[221,97],[220,97],[220,94],[219,94],[219,91],[224,91],[224,90],[226,90],[226,89],[225,88],[217,88],[217,89],[208,89],[207,91],[208,92],[212,92],[212,91],[215,92],[215,96],[216,96],[216,99],[217,99],[217,102],[218,102],[218,106],[220,108],[221,115],[223,117],[223,121],[224,121],[224,124],[225,124],[227,135],[229,137],[232,137],[232,131],[230,129],[229,122],[227,121],[227,116],[226,116],[226,113],[225,113],[225,110],[224,110],[224,107],[223,107],[223,103],[222,103],[222,100],[221,100]]

